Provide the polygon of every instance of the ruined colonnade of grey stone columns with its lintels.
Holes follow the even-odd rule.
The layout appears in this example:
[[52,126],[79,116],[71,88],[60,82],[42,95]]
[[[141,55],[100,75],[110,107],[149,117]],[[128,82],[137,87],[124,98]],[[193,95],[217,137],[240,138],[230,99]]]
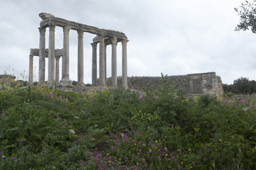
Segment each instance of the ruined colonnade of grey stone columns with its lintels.
[[[117,43],[122,42],[122,86],[127,89],[127,36],[119,31],[105,30],[93,26],[87,26],[63,18],[57,18],[50,13],[39,13],[43,21],[40,23],[39,49],[31,49],[29,58],[29,84],[33,84],[33,56],[39,56],[39,80],[38,84],[45,84],[46,57],[48,57],[48,81],[47,86],[58,84],[58,89],[70,91],[73,87],[69,79],[69,31],[78,32],[78,85],[84,84],[84,57],[83,57],[83,33],[97,35],[92,40],[92,86],[97,81],[97,44],[100,44],[100,86],[106,86],[106,48],[112,45],[112,86],[117,85]],[[55,50],[55,27],[63,28],[63,49]],[[46,49],[46,28],[49,28],[49,47]],[[62,57],[62,76],[59,81],[59,59]],[[56,63],[56,64],[55,64]],[[59,81],[59,82],[58,82]]]

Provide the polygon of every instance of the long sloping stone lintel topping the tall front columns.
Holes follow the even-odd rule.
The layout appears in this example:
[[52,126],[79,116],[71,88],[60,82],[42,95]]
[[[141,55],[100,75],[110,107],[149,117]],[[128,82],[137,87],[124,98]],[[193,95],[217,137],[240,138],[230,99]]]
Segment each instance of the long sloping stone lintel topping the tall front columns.
[[[50,14],[50,13],[48,13]],[[43,21],[41,21],[40,23],[40,27],[48,27],[50,24],[53,24],[55,26],[60,26],[60,27],[65,27],[65,26],[70,26],[70,28],[72,30],[82,30],[84,32],[87,33],[92,33],[92,34],[96,34],[96,35],[105,35],[107,37],[116,37],[116,38],[120,38],[120,39],[127,39],[127,36],[122,33],[119,32],[117,30],[105,30],[105,29],[100,29],[94,26],[87,26],[85,24],[82,23],[76,23],[73,21],[68,21],[65,20],[63,18],[57,18],[54,16],[48,16],[46,17],[43,16]]]

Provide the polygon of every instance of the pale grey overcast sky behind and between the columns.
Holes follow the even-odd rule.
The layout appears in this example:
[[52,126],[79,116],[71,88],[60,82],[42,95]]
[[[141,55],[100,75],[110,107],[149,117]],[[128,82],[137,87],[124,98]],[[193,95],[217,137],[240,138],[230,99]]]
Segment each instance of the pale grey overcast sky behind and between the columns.
[[[234,31],[240,21],[234,7],[242,2],[244,0],[0,0],[0,74],[7,72],[23,79],[20,74],[25,70],[24,79],[28,77],[30,48],[39,47],[41,18],[38,13],[46,12],[125,33],[129,39],[129,77],[158,77],[161,72],[168,75],[216,72],[224,84],[233,84],[233,80],[240,77],[256,80],[256,35],[250,30]],[[91,83],[90,43],[94,37],[84,33],[85,84]],[[63,29],[59,27],[55,29],[55,48],[63,48]],[[34,81],[38,81],[38,57],[33,61]],[[117,75],[121,76],[120,42],[117,64]],[[78,80],[77,65],[78,33],[70,30],[71,80]],[[46,60],[46,80],[47,69]],[[111,45],[108,45],[107,77],[110,76]]]

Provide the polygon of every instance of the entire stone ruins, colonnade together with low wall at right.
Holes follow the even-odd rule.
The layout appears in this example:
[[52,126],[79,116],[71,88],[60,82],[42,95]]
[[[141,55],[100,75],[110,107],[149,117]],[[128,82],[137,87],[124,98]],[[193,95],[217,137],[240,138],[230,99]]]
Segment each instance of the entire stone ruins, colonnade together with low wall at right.
[[[84,56],[83,56],[83,33],[92,33],[96,37],[92,40],[92,86],[122,86],[124,89],[143,91],[143,87],[151,85],[157,88],[161,77],[127,77],[127,36],[116,30],[105,30],[93,26],[87,26],[63,18],[57,18],[50,13],[39,13],[43,21],[40,23],[39,48],[32,48],[29,55],[29,76],[28,84],[33,85],[33,57],[39,57],[39,86],[53,86],[57,84],[62,91],[75,89],[86,90],[84,84]],[[55,49],[55,27],[63,28],[63,49]],[[49,43],[46,49],[46,28],[49,30]],[[76,30],[78,33],[78,85],[73,87],[69,78],[69,32]],[[122,42],[122,77],[117,77],[117,43]],[[99,67],[97,68],[97,44],[99,47]],[[106,70],[106,48],[112,45],[112,76],[107,78]],[[61,79],[60,57],[62,57]],[[46,83],[46,58],[48,58],[48,81]],[[97,71],[99,76],[97,77]],[[223,86],[220,77],[215,72],[187,74],[183,76],[168,77],[173,84],[188,94],[210,94],[221,96]]]

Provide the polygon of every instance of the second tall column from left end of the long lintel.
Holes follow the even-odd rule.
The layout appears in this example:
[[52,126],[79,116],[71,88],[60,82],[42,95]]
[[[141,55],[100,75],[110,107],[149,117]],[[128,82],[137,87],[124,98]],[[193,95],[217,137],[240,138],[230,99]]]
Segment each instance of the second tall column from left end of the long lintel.
[[55,26],[49,26],[49,51],[48,51],[48,82],[47,86],[54,85],[55,74]]

